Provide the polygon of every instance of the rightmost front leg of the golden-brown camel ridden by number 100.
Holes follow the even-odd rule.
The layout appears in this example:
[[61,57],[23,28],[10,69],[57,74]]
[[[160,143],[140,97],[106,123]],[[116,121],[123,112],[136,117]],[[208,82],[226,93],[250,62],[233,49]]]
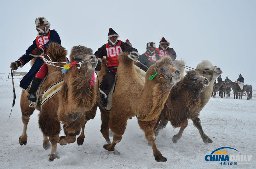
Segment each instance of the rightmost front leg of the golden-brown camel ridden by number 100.
[[157,162],[165,162],[165,161],[167,161],[167,158],[162,156],[160,151],[157,149],[156,143],[155,143],[154,126],[156,125],[156,122],[157,122],[157,119],[154,121],[149,121],[149,122],[138,120],[138,124],[139,124],[140,128],[144,131],[145,137],[153,149],[153,154],[154,154],[155,160]]

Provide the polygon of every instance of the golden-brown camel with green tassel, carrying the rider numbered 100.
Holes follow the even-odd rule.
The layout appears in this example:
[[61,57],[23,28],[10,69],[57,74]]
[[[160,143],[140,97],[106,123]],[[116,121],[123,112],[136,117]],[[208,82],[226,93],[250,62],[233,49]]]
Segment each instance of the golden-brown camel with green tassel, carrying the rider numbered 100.
[[[133,62],[128,59],[128,53],[119,55],[119,66],[117,69],[117,81],[112,98],[112,109],[109,113],[109,128],[113,131],[113,142],[103,147],[108,151],[114,151],[115,145],[122,139],[126,129],[127,120],[138,115],[140,128],[145,132],[145,137],[151,144],[155,160],[165,162],[156,147],[154,126],[158,115],[164,108],[164,103],[173,85],[180,80],[180,71],[174,70],[170,57],[165,56],[151,65],[146,72],[145,85],[138,77]],[[160,70],[167,78],[159,78]],[[101,69],[102,70],[102,69]],[[129,70],[129,71],[127,71]],[[149,80],[149,76],[158,73],[156,77]]]

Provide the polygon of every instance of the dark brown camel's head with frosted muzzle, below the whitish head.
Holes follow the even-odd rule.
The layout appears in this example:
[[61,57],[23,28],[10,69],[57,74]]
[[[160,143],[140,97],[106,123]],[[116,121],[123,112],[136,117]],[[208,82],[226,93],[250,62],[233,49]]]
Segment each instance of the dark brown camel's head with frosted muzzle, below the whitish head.
[[186,73],[187,74],[182,79],[183,84],[190,85],[191,87],[199,90],[209,86],[209,80],[206,77],[201,76],[197,71],[191,70]]

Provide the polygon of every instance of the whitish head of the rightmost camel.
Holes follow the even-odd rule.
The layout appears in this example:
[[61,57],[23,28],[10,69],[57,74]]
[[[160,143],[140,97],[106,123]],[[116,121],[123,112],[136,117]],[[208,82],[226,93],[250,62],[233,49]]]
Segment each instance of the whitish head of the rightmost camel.
[[219,67],[213,66],[212,63],[208,60],[203,60],[196,66],[196,70],[198,73],[211,81],[212,79],[216,79],[221,73]]

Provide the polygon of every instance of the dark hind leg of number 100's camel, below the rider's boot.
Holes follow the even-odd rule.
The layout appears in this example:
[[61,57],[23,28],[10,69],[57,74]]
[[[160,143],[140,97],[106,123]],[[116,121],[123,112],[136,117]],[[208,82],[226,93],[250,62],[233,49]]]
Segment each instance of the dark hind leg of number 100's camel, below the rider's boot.
[[111,144],[109,139],[109,112],[103,110],[102,107],[99,106],[100,109],[100,116],[101,116],[101,129],[100,132],[102,133],[103,137],[105,138],[107,144]]

